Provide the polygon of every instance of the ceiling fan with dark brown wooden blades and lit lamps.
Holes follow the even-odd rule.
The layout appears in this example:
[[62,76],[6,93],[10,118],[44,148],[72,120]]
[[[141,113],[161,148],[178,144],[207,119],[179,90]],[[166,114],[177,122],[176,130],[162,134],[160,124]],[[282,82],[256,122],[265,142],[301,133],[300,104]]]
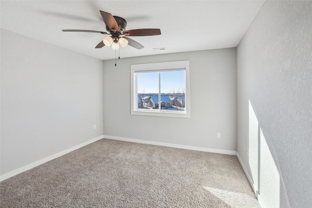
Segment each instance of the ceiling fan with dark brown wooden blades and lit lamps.
[[[112,45],[113,50],[119,50],[119,44],[121,47],[130,45],[137,49],[144,48],[143,45],[137,41],[128,38],[128,36],[156,36],[160,35],[160,29],[135,29],[125,30],[127,21],[123,18],[113,16],[110,13],[99,11],[104,23],[106,25],[107,32],[94,31],[94,30],[62,30],[63,32],[87,32],[87,33],[101,33],[103,35],[111,35],[110,37],[104,38],[98,43],[96,48],[102,48],[103,46]],[[118,44],[119,43],[119,44]]]

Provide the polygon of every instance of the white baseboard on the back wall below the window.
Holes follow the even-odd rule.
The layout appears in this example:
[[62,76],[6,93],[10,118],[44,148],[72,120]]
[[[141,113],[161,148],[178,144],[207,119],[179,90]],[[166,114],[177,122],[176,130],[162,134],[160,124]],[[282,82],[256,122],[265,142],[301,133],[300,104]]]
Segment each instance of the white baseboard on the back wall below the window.
[[136,142],[136,143],[158,145],[158,146],[165,146],[165,147],[174,147],[174,148],[181,148],[181,149],[186,149],[186,150],[207,151],[207,152],[214,152],[214,153],[221,153],[221,154],[236,155],[236,151],[231,151],[231,150],[219,150],[219,149],[212,149],[212,148],[194,147],[194,146],[188,146],[188,145],[170,144],[170,143],[164,143],[164,142],[131,139],[131,138],[125,138],[125,137],[119,137],[119,136],[110,136],[110,135],[103,135],[103,137],[107,139],[115,139],[115,140],[120,140],[120,141]]

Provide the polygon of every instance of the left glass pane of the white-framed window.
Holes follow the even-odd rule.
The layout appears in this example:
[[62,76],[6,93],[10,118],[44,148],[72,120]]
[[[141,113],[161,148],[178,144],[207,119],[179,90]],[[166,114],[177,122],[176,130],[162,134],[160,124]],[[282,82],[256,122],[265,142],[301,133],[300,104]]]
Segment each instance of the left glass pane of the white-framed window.
[[159,72],[137,73],[138,108],[158,109],[158,76]]

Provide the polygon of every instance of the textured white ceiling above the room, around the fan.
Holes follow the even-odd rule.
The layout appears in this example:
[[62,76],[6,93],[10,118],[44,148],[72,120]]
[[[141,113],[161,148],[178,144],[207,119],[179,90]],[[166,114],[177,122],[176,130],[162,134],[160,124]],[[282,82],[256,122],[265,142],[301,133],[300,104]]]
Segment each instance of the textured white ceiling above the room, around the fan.
[[[99,10],[127,20],[126,30],[159,28],[160,36],[130,37],[145,46],[121,48],[120,57],[236,47],[264,0],[0,1],[1,28],[102,60],[115,51],[95,46],[107,37]],[[153,48],[166,50],[154,51]],[[118,53],[117,53],[118,56]]]

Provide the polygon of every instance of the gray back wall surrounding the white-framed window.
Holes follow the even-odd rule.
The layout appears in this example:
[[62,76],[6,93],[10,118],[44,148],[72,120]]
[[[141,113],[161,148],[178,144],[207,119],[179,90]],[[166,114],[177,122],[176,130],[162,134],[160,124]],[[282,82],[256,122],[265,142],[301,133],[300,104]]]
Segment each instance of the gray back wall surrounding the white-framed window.
[[[178,60],[190,60],[191,118],[131,115],[130,65]],[[106,60],[103,95],[104,135],[236,151],[235,48]]]

